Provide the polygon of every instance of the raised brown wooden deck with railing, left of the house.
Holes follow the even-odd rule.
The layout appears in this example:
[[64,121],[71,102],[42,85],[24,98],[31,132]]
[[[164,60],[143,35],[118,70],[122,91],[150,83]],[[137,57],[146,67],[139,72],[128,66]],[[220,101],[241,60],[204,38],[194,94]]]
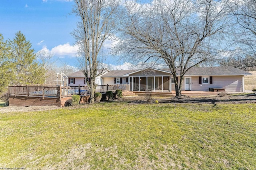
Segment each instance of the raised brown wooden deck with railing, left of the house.
[[[129,85],[97,86],[96,92],[126,91]],[[88,102],[88,86],[8,86],[9,106],[66,106],[73,95],[80,95],[81,102]],[[84,97],[87,96],[87,97]]]

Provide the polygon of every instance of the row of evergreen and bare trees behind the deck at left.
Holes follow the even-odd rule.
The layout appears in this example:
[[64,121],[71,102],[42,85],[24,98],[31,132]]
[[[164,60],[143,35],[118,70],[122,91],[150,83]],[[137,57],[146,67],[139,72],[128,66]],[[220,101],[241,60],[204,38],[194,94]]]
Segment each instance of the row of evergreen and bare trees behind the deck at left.
[[0,94],[7,90],[9,84],[56,85],[57,72],[69,74],[76,71],[65,62],[56,66],[52,53],[35,53],[31,46],[21,31],[15,33],[14,39],[6,41],[0,33]]

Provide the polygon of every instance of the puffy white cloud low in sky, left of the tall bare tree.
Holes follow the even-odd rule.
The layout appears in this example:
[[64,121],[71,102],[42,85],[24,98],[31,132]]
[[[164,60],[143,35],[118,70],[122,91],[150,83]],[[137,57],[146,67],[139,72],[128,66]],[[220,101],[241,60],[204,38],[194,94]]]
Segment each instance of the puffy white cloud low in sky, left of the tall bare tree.
[[53,47],[51,50],[49,50],[46,46],[43,46],[41,50],[53,53],[54,55],[58,55],[60,57],[63,57],[64,55],[75,57],[78,51],[78,46],[72,46],[69,43],[66,43],[63,45],[57,45],[56,47]]

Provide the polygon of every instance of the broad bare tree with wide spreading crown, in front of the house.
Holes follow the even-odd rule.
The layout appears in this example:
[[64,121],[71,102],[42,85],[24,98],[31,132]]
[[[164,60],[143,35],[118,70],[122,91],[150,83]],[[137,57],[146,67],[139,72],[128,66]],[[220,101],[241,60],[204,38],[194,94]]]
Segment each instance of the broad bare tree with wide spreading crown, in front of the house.
[[190,68],[214,60],[226,48],[220,40],[228,26],[228,10],[220,0],[127,1],[124,9],[116,51],[130,54],[135,62],[165,62],[174,77],[176,96]]

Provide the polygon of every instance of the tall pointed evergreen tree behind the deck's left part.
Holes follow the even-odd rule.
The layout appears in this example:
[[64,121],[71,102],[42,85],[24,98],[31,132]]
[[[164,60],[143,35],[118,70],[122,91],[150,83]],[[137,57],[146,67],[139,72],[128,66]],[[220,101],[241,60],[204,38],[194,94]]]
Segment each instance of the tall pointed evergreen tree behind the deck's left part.
[[14,64],[12,84],[43,84],[44,68],[36,62],[32,44],[18,31],[13,40],[8,41],[10,61]]

